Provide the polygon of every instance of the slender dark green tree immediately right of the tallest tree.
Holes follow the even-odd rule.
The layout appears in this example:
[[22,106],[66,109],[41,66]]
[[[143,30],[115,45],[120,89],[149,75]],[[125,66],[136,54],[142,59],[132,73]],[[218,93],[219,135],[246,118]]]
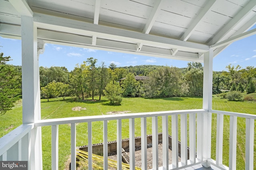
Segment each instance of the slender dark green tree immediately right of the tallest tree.
[[108,68],[106,68],[106,65],[104,62],[101,63],[100,71],[99,71],[99,100],[101,99],[101,95],[103,94],[103,90],[105,89],[106,85],[109,82],[109,74],[108,74]]

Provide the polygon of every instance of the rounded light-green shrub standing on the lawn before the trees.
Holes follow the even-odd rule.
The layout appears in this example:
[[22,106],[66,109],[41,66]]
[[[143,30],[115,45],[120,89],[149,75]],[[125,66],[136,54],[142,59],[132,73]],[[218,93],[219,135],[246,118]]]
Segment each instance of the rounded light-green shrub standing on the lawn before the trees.
[[119,84],[108,83],[105,90],[103,90],[104,95],[108,100],[110,100],[110,105],[120,105],[122,102],[122,88]]

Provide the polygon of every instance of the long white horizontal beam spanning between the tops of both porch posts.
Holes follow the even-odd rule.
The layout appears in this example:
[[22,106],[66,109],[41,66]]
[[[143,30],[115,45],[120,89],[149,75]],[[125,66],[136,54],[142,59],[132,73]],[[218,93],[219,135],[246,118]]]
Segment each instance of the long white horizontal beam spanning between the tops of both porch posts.
[[69,20],[55,16],[34,13],[34,21],[42,29],[49,29],[67,33],[73,33],[84,36],[96,35],[104,39],[118,39],[122,42],[143,43],[152,47],[179,48],[181,51],[206,52],[209,50],[208,45],[180,41],[156,35],[127,31],[103,25],[95,25],[82,21]]

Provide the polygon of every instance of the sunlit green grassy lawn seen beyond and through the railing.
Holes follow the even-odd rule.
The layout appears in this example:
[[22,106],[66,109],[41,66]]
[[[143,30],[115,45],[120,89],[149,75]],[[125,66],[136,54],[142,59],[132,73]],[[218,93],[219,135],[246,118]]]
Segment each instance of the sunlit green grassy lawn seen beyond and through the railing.
[[[252,94],[254,97],[256,93]],[[85,107],[86,110],[72,111],[73,107]],[[234,111],[240,113],[256,114],[256,102],[230,102],[226,99],[213,97],[213,109]],[[123,98],[121,106],[109,106],[106,98],[102,97],[101,101],[74,101],[71,98],[62,100],[62,98],[41,100],[42,119],[54,119],[60,117],[77,117],[90,115],[106,115],[108,111],[130,111],[128,113],[140,113],[149,111],[166,111],[180,109],[201,109],[202,98]],[[216,147],[216,115],[213,114],[212,121],[212,150]],[[7,134],[12,129],[18,127],[22,123],[22,105],[18,102],[16,106],[0,117],[0,137]],[[169,117],[171,119],[171,117]],[[15,120],[15,121],[10,121]],[[158,118],[159,128],[161,129],[161,117]],[[135,119],[136,134],[140,136],[140,119]],[[245,158],[245,120],[238,119],[237,131],[237,169],[244,168]],[[101,143],[103,135],[103,123],[93,122],[93,143]],[[77,146],[87,145],[87,123],[79,123],[77,125]],[[122,138],[129,137],[128,120],[122,121]],[[45,170],[51,169],[51,127],[42,127],[42,150],[43,150],[43,166]],[[171,123],[169,125],[169,133],[171,132]],[[256,128],[254,129],[256,134]],[[151,134],[151,119],[148,118],[147,133]],[[170,133],[171,135],[171,133]],[[256,135],[254,135],[256,138]],[[116,121],[108,122],[108,141],[116,140]],[[223,163],[228,166],[228,141],[229,141],[229,117],[224,117],[224,153]],[[256,139],[254,139],[256,146]],[[254,149],[254,157],[256,157],[256,149]],[[64,169],[64,163],[70,155],[70,125],[59,125],[59,169]],[[212,152],[212,158],[215,159],[215,152]],[[254,162],[255,164],[256,162]],[[256,166],[254,166],[256,169]]]

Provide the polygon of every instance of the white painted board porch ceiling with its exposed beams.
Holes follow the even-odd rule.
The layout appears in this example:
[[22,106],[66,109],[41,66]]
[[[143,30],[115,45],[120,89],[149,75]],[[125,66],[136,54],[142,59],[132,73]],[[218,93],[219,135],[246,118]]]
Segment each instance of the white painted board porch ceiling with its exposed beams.
[[21,16],[46,43],[196,62],[256,33],[256,0],[0,0],[0,36]]

